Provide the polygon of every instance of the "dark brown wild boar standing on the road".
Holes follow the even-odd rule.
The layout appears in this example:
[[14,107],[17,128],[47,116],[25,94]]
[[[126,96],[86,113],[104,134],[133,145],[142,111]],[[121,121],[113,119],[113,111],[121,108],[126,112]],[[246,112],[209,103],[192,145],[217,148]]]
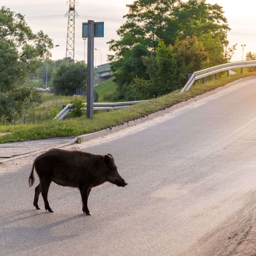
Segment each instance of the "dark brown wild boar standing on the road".
[[53,212],[48,202],[48,190],[51,182],[61,186],[78,187],[82,197],[83,213],[91,215],[88,209],[88,197],[92,187],[109,181],[117,186],[126,186],[127,183],[117,172],[112,155],[95,155],[78,150],[60,150],[52,148],[38,156],[33,163],[29,176],[29,186],[34,184],[34,168],[40,179],[35,188],[34,206],[38,207],[38,198],[42,193],[45,208]]

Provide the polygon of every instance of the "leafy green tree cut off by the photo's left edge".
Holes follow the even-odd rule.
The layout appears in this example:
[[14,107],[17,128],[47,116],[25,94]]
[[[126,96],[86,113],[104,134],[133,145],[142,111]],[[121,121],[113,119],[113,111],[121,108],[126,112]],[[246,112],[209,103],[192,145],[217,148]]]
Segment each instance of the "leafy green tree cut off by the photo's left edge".
[[39,102],[39,92],[26,86],[39,58],[50,56],[52,40],[42,31],[33,34],[22,14],[0,9],[0,120],[10,122]]

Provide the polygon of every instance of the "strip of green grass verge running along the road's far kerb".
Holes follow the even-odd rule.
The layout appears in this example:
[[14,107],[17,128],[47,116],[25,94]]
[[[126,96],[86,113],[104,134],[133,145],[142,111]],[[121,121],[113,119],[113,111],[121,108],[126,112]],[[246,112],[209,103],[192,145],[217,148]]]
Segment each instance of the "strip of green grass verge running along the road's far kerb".
[[188,91],[182,94],[180,94],[181,90],[179,89],[151,101],[133,105],[130,108],[110,112],[98,111],[94,113],[94,118],[92,119],[83,116],[68,120],[49,120],[38,124],[0,125],[0,133],[7,133],[4,136],[0,136],[0,143],[79,136],[100,131],[166,109],[197,95],[225,86],[229,82],[252,75],[255,76],[256,72],[247,73],[244,71],[243,74],[232,75],[229,78],[223,76],[217,80],[208,81],[205,84],[197,81]]

